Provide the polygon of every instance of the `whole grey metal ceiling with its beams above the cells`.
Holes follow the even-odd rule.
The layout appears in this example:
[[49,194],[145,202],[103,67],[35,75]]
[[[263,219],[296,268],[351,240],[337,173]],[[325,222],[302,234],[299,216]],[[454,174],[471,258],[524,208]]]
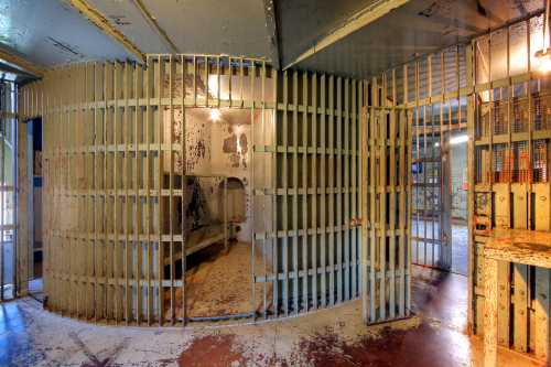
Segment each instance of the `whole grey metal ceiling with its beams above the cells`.
[[[366,9],[392,0],[87,2],[142,53],[263,57],[281,67],[292,64],[356,77],[402,64],[414,54],[466,41],[543,8],[543,0],[410,0],[296,62],[327,35],[347,30]],[[69,3],[0,0],[0,47],[43,67],[134,58]],[[147,9],[145,13],[139,4]]]

